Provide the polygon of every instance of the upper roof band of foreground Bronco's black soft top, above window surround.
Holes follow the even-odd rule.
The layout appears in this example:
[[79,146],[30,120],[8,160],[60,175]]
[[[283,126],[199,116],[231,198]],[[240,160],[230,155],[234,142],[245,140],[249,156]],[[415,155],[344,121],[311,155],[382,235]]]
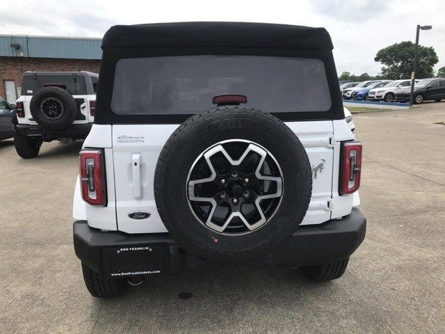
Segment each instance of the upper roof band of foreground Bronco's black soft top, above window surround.
[[332,49],[324,28],[247,22],[178,22],[112,26],[105,47],[289,47]]

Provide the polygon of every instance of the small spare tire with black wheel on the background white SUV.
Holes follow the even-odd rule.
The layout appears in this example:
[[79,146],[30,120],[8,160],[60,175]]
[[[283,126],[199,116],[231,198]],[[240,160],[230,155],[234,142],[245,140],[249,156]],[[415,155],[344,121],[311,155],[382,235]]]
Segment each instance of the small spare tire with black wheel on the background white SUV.
[[50,130],[66,129],[77,115],[74,97],[58,87],[37,90],[31,98],[30,109],[35,122]]

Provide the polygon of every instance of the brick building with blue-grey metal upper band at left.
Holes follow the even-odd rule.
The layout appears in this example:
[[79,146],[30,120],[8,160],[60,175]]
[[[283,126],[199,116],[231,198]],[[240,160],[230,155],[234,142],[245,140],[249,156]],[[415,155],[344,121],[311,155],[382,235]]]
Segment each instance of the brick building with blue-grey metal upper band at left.
[[13,103],[26,71],[99,72],[101,38],[0,35],[0,97]]

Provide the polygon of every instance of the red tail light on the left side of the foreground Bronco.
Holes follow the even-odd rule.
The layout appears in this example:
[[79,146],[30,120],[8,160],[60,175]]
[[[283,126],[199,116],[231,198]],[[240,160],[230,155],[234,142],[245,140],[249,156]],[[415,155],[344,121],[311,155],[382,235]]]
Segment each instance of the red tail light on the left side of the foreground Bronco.
[[106,205],[104,154],[101,150],[79,153],[82,198],[90,205]]

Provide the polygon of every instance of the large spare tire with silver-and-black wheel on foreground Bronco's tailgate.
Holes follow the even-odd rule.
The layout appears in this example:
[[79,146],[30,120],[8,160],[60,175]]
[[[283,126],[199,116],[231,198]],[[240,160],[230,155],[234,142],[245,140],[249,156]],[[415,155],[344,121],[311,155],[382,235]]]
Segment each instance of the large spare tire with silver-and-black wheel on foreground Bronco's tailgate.
[[269,113],[220,107],[189,118],[165,143],[156,206],[179,246],[213,260],[248,260],[291,236],[312,195],[297,136]]

